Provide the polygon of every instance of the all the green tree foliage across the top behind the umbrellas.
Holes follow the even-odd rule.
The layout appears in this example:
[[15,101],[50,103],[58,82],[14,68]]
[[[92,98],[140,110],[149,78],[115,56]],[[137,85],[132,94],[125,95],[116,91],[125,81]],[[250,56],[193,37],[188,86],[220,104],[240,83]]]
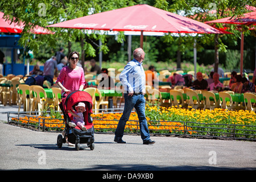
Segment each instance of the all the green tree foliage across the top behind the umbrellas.
[[[85,57],[96,57],[98,51],[102,51],[105,60],[117,60],[118,62],[126,62],[127,52],[126,47],[120,50],[120,43],[126,42],[126,36],[123,32],[117,35],[117,48],[111,47],[109,44],[108,35],[86,34],[84,31],[70,28],[49,28],[55,32],[53,35],[33,35],[29,30],[32,26],[38,25],[46,27],[48,24],[63,22],[69,19],[79,18],[88,14],[95,14],[113,9],[119,9],[126,6],[137,4],[148,4],[172,13],[182,13],[185,16],[193,15],[191,18],[205,22],[213,19],[220,19],[226,16],[241,16],[246,13],[245,5],[256,6],[256,1],[249,0],[221,0],[221,1],[205,1],[205,0],[85,0],[85,1],[57,1],[57,0],[9,0],[1,1],[0,9],[3,13],[10,16],[10,19],[17,22],[23,21],[26,23],[22,38],[19,44],[23,47],[29,47],[36,55],[36,60],[46,61],[49,57],[55,54],[59,47],[64,47],[67,55],[71,50],[81,51],[81,40],[84,40]],[[214,4],[211,4],[214,3]],[[212,10],[216,10],[216,14],[211,14]],[[17,19],[13,19],[13,17]],[[217,27],[222,27],[223,24],[216,24]],[[229,31],[233,34],[223,34],[218,38],[218,51],[226,52],[229,47],[227,45],[236,46],[240,41],[241,32],[237,30],[236,25],[230,24]],[[242,26],[245,36],[250,32],[248,27]],[[195,37],[183,36],[173,37],[167,34],[163,37],[149,37],[144,40],[144,49],[147,53],[145,63],[155,64],[158,61],[165,61],[165,67],[175,68],[172,65],[177,60],[176,52],[181,51],[182,61],[193,61],[193,43],[196,39],[197,51],[201,52],[205,47],[214,47],[214,35],[204,34]],[[98,40],[101,40],[102,46],[98,45]],[[71,47],[69,47],[69,45]],[[139,47],[139,36],[133,36],[132,49]],[[255,44],[254,44],[255,46]],[[119,48],[119,49],[118,49]],[[229,52],[230,53],[230,52]],[[250,57],[250,56],[249,56]],[[232,60],[232,59],[230,59]],[[220,60],[221,62],[221,60]],[[225,61],[224,61],[225,62]],[[245,61],[246,62],[246,61]],[[229,63],[226,61],[226,63]],[[224,64],[226,64],[224,63]],[[247,65],[247,63],[245,63]],[[234,64],[235,65],[235,64]],[[163,68],[162,68],[163,69]]]

